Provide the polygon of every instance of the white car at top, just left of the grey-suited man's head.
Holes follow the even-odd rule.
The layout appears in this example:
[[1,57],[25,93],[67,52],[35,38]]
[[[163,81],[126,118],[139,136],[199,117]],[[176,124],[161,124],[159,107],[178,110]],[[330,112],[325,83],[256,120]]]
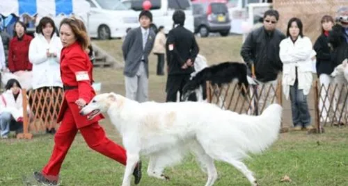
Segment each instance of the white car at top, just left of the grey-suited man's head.
[[88,32],[90,37],[108,40],[123,37],[127,28],[139,26],[139,14],[118,0],[86,0],[90,3]]

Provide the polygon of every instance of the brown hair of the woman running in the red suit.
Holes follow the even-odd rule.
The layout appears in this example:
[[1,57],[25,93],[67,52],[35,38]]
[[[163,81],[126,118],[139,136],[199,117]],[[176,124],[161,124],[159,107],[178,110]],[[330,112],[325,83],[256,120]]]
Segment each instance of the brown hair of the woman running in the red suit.
[[84,26],[84,22],[74,17],[65,18],[62,20],[59,29],[63,24],[67,24],[70,26],[72,32],[74,33],[77,42],[81,45],[82,49],[87,49],[90,45],[90,40],[86,31],[86,26]]

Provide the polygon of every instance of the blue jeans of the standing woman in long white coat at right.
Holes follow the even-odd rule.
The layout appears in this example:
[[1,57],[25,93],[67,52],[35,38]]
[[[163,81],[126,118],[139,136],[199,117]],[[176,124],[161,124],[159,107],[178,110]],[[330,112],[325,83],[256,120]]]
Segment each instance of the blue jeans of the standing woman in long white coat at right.
[[290,100],[292,110],[292,122],[294,127],[310,126],[310,113],[308,109],[307,96],[303,94],[303,90],[298,89],[297,79],[293,86],[290,86]]

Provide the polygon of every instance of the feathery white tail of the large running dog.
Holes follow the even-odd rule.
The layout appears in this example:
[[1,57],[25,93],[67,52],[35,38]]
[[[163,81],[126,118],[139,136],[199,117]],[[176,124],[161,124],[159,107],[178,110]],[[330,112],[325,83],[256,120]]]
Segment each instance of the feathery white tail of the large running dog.
[[278,139],[283,108],[281,105],[269,105],[262,115],[253,117],[251,122],[241,127],[249,142],[246,151],[260,153]]

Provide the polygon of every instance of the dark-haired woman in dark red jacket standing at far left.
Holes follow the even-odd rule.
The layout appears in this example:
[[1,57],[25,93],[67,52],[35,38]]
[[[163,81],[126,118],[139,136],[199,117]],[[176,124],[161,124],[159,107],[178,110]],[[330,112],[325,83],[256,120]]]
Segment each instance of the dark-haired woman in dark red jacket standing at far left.
[[33,37],[26,34],[26,26],[23,22],[16,22],[14,37],[10,41],[8,49],[8,69],[10,71],[31,71],[33,65],[29,62],[29,44]]

